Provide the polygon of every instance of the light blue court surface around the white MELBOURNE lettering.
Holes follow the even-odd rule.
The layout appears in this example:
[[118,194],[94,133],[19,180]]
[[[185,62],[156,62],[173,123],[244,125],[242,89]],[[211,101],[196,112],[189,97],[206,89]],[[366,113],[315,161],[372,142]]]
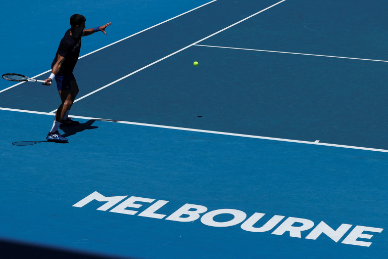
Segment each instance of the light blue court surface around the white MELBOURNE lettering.
[[[0,156],[7,172],[0,181],[6,197],[0,214],[3,239],[139,258],[384,257],[386,153],[83,119],[77,128],[65,130],[71,135],[68,144],[20,146],[16,142],[44,140],[41,125],[52,116],[0,114],[7,125]],[[29,130],[20,132],[26,120]],[[107,204],[96,200],[73,206],[93,192],[127,196],[120,197],[122,202],[131,196],[152,200],[134,202],[141,206],[127,201],[127,210],[118,205],[117,213],[110,211],[116,205],[96,210]],[[137,215],[159,200],[168,203],[153,216],[163,219]],[[241,223],[211,226],[233,219],[225,213],[213,221],[205,220],[203,215],[211,214],[204,212],[190,222],[166,220],[185,204],[204,206],[206,212],[233,209],[246,219],[265,213],[255,228],[274,215],[284,218],[261,233],[243,230]],[[139,212],[125,214],[129,210]],[[301,237],[280,230],[273,234],[293,218],[314,227],[323,221],[334,230],[352,226],[338,242],[325,234],[306,239],[312,226]],[[357,241],[371,242],[369,247],[342,243],[361,228],[356,226],[384,230],[363,232],[373,236]]]

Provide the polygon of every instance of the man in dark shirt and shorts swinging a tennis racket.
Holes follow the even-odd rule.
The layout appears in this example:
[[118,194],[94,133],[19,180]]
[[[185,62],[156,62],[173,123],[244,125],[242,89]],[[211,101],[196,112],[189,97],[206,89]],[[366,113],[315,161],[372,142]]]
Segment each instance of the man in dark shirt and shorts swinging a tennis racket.
[[85,22],[86,18],[82,15],[75,14],[70,17],[71,28],[66,31],[65,36],[59,44],[57,54],[51,65],[50,77],[44,80],[45,85],[50,85],[55,78],[62,101],[55,114],[53,127],[46,137],[48,141],[68,142],[67,138],[59,134],[59,126],[79,124],[78,121],[72,120],[68,115],[74,99],[78,94],[78,85],[73,75],[73,69],[78,61],[81,50],[81,37],[91,35],[96,31],[102,31],[107,35],[105,28],[111,25],[111,23],[107,23],[104,26],[85,30]]

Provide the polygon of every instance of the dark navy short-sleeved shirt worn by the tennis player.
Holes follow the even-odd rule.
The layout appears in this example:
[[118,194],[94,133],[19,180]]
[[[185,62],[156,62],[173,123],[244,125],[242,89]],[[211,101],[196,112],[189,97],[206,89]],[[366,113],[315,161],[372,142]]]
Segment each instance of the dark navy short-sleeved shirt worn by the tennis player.
[[65,36],[61,39],[57,54],[55,54],[55,59],[53,64],[51,64],[51,69],[53,69],[55,63],[57,63],[58,55],[64,57],[65,61],[62,63],[60,69],[60,73],[64,75],[69,75],[73,72],[75,64],[78,61],[79,51],[81,50],[82,33],[78,35],[78,38],[73,38],[70,35],[70,31],[71,29],[68,29]]

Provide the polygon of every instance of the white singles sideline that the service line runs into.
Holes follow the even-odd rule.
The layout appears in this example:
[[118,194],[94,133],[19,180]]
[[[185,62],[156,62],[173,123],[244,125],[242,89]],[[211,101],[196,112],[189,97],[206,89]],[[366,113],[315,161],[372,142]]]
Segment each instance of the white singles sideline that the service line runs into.
[[[187,49],[187,48],[189,48],[189,47],[191,47],[191,46],[193,46],[193,45],[196,45],[197,43],[199,43],[199,42],[201,42],[201,41],[203,41],[203,40],[205,40],[205,39],[207,39],[207,38],[210,38],[211,36],[214,36],[214,35],[216,35],[217,33],[220,33],[220,32],[222,32],[222,31],[224,31],[224,30],[226,30],[226,29],[229,29],[230,27],[232,27],[232,26],[234,26],[234,25],[236,25],[236,24],[239,24],[240,22],[244,22],[245,20],[248,20],[249,18],[252,18],[252,17],[254,17],[255,15],[258,15],[258,14],[260,14],[260,13],[262,13],[262,12],[264,12],[264,11],[266,11],[266,10],[268,10],[268,9],[270,9],[270,8],[276,6],[276,5],[278,5],[278,4],[280,4],[280,3],[284,2],[284,1],[285,1],[285,0],[282,0],[282,1],[280,1],[280,2],[278,2],[278,3],[276,3],[276,4],[274,4],[274,5],[272,5],[272,6],[270,6],[270,7],[267,7],[266,9],[263,9],[263,10],[261,10],[260,12],[257,12],[256,14],[253,14],[253,15],[251,15],[251,16],[249,16],[249,17],[243,19],[243,20],[240,20],[240,21],[238,21],[238,22],[236,22],[236,23],[234,23],[234,24],[232,24],[232,25],[230,25],[230,26],[228,26],[228,27],[226,27],[226,28],[224,28],[224,29],[222,29],[222,30],[219,30],[219,31],[217,31],[217,32],[215,32],[215,33],[213,33],[213,34],[211,34],[211,35],[209,35],[209,36],[207,36],[207,37],[205,37],[205,38],[203,38],[203,39],[200,39],[200,40],[194,42],[193,44],[190,44],[190,45],[184,47],[183,49],[180,49],[180,50],[178,50],[178,51],[176,51],[176,52],[174,52],[174,53],[171,53],[170,55],[168,55],[168,56],[166,56],[166,57],[164,57],[164,58],[161,58],[161,59],[159,59],[159,60],[157,60],[157,61],[155,61],[155,62],[153,62],[153,63],[151,63],[151,64],[149,64],[149,65],[147,65],[147,66],[144,66],[144,67],[142,67],[142,68],[140,68],[140,69],[138,69],[138,70],[136,70],[136,71],[134,71],[134,72],[132,72],[132,73],[130,73],[130,74],[127,74],[126,76],[123,76],[123,77],[117,79],[116,81],[113,81],[113,82],[111,82],[111,83],[109,83],[109,84],[107,84],[107,85],[104,85],[104,87],[99,88],[99,89],[97,89],[97,90],[95,90],[95,91],[93,91],[93,92],[91,92],[91,93],[89,93],[89,94],[87,94],[87,95],[84,95],[84,96],[78,98],[77,100],[75,100],[74,102],[78,102],[79,100],[82,100],[83,98],[88,97],[89,95],[92,95],[92,94],[94,94],[94,93],[96,93],[96,92],[99,92],[100,90],[103,90],[104,88],[107,88],[107,87],[109,87],[110,85],[112,85],[112,84],[114,84],[114,83],[116,83],[116,82],[118,82],[118,81],[121,81],[121,80],[127,78],[128,76],[131,76],[131,75],[133,75],[133,74],[135,74],[135,73],[137,73],[137,72],[139,72],[139,71],[141,71],[141,70],[143,70],[143,69],[145,69],[145,68],[148,68],[149,66],[152,66],[152,65],[154,65],[154,64],[156,64],[156,63],[158,63],[158,62],[160,62],[160,61],[162,61],[162,60],[164,60],[164,59],[166,59],[166,58],[171,57],[172,55],[177,54],[178,52],[181,52],[181,51],[183,51],[183,50],[185,50],[185,49]],[[53,112],[56,112],[56,111],[57,111],[57,110],[54,110],[54,111],[51,111],[50,113],[53,113]]]

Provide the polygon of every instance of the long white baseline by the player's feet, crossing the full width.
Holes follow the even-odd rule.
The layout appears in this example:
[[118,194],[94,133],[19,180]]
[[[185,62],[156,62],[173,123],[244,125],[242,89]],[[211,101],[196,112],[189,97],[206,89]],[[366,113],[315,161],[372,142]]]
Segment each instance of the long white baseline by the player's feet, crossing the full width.
[[[43,114],[43,115],[51,115],[51,116],[55,115],[54,113],[49,113],[49,112],[27,111],[27,110],[18,110],[18,109],[1,108],[1,107],[0,107],[0,110],[16,111],[16,112],[26,112],[26,113],[35,113],[35,114]],[[215,132],[215,131],[197,130],[195,128],[173,127],[173,126],[164,126],[164,125],[156,125],[156,124],[138,123],[138,122],[123,121],[123,120],[92,118],[92,117],[83,117],[83,116],[75,116],[75,115],[69,115],[69,116],[71,116],[72,118],[79,118],[79,119],[94,119],[94,120],[101,120],[101,121],[108,121],[108,122],[116,122],[116,123],[131,124],[131,125],[139,125],[139,126],[169,128],[171,130],[180,130],[180,131],[189,131],[189,132],[202,132],[202,133],[211,133],[211,134],[228,135],[228,136],[236,136],[236,137],[245,137],[245,138],[253,138],[253,139],[284,141],[284,142],[293,142],[293,143],[310,144],[310,145],[318,145],[318,146],[329,146],[329,147],[338,147],[338,148],[361,149],[361,150],[368,150],[368,151],[377,151],[377,152],[388,153],[388,150],[385,150],[385,149],[364,148],[364,147],[355,147],[355,146],[346,146],[346,145],[336,145],[336,144],[320,143],[320,142],[317,142],[317,141],[312,142],[312,141],[301,141],[301,140],[278,139],[278,138],[269,138],[269,137],[261,137],[261,136],[245,135],[245,134],[235,134],[235,133],[227,133],[227,132]]]

